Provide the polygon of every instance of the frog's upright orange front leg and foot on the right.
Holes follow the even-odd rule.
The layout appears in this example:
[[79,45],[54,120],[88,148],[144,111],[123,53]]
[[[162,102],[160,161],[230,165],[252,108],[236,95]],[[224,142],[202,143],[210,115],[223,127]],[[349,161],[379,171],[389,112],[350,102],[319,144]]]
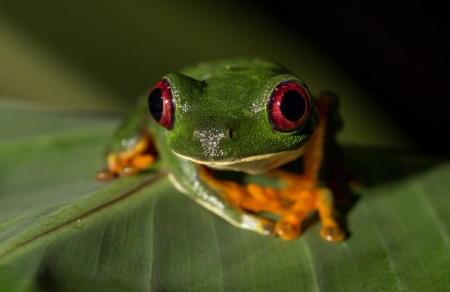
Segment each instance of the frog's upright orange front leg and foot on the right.
[[327,143],[335,142],[337,121],[333,119],[337,117],[337,113],[332,111],[337,108],[333,108],[332,103],[337,103],[337,97],[328,92],[322,93],[316,102],[319,125],[303,156],[303,174],[296,175],[280,171],[272,174],[286,184],[280,192],[280,197],[289,197],[295,202],[288,210],[288,214],[276,224],[277,233],[284,239],[290,240],[298,236],[301,221],[312,210],[319,212],[322,221],[320,235],[324,239],[336,242],[345,238],[345,232],[339,227],[334,217],[333,193],[329,188],[322,186],[320,180],[321,169],[324,164],[329,163],[324,161],[328,154],[325,151],[330,151]]

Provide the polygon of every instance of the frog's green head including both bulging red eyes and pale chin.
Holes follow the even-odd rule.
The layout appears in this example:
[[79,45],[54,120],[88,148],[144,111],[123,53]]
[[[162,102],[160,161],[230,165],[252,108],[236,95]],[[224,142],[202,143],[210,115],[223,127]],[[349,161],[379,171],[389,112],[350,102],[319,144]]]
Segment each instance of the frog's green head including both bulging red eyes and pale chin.
[[151,91],[149,110],[176,155],[263,173],[301,156],[317,124],[306,85],[284,72],[224,66],[199,80],[168,74]]

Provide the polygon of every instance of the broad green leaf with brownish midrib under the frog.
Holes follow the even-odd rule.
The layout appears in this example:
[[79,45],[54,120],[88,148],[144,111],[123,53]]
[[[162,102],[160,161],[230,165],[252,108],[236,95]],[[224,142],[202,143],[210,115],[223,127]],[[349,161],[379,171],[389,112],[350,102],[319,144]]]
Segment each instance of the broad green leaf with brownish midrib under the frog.
[[[448,291],[450,163],[344,147],[368,183],[329,243],[237,229],[163,171],[93,177],[116,120],[0,106],[0,291]],[[314,219],[314,217],[313,217]]]

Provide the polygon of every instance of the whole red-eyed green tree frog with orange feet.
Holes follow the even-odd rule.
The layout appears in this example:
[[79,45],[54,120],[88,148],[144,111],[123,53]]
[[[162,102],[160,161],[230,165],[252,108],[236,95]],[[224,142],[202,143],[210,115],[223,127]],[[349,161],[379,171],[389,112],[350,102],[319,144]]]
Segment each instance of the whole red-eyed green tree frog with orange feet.
[[[179,191],[237,227],[292,240],[317,210],[321,236],[341,241],[333,194],[319,177],[335,99],[328,92],[311,97],[302,80],[265,59],[167,74],[118,129],[97,179],[135,175],[161,159]],[[292,161],[301,174],[280,169]],[[216,175],[222,171],[262,175],[282,187],[224,180]]]

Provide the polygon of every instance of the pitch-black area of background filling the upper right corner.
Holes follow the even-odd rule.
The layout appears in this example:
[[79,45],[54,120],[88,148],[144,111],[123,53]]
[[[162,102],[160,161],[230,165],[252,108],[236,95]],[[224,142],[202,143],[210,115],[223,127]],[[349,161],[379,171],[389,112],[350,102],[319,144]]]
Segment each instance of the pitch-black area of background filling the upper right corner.
[[450,10],[440,3],[273,1],[263,9],[346,64],[422,151],[448,156]]

